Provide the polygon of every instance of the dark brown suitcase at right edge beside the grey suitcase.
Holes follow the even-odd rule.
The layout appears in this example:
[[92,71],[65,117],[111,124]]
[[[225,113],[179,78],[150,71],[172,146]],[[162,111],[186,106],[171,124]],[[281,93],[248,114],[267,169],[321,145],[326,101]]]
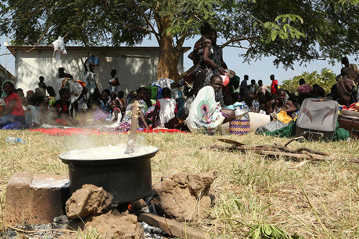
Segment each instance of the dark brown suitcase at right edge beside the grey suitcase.
[[359,138],[359,112],[344,110],[339,118],[339,127],[347,129],[351,137]]

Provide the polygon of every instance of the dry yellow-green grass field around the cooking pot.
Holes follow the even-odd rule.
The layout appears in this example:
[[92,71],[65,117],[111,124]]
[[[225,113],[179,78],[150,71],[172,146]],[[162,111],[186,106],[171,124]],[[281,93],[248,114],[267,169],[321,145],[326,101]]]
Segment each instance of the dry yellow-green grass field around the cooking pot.
[[[9,144],[6,136],[24,138],[26,144]],[[293,142],[335,155],[333,161],[311,164],[284,158],[268,159],[252,152],[229,152],[200,146],[223,145],[226,137],[246,144],[285,143],[288,138],[259,136],[206,136],[190,133],[140,134],[138,141],[160,148],[152,159],[152,181],[176,171],[218,171],[211,187],[216,204],[211,217],[195,225],[227,238],[265,238],[265,230],[305,238],[359,238],[359,141]],[[1,217],[6,183],[14,172],[66,174],[58,155],[72,149],[116,145],[126,134],[48,136],[29,131],[0,130]],[[259,227],[258,227],[259,226]],[[257,230],[256,230],[257,228]],[[283,230],[283,232],[281,232]],[[273,234],[272,234],[273,235]],[[270,238],[270,237],[269,237]]]

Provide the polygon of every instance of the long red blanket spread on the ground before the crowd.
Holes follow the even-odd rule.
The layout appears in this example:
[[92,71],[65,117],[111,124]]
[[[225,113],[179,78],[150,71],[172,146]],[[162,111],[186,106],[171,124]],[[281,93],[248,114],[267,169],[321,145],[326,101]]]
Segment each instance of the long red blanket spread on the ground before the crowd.
[[[29,129],[33,132],[41,132],[44,134],[56,136],[56,135],[62,135],[62,136],[69,136],[69,135],[91,135],[91,134],[102,134],[102,135],[108,135],[108,134],[115,134],[115,133],[127,133],[127,132],[116,132],[116,131],[105,131],[102,132],[95,128],[34,128]],[[185,133],[185,131],[180,131],[178,129],[150,129],[145,131],[137,131],[138,133],[158,133],[158,132],[169,132],[169,133]]]

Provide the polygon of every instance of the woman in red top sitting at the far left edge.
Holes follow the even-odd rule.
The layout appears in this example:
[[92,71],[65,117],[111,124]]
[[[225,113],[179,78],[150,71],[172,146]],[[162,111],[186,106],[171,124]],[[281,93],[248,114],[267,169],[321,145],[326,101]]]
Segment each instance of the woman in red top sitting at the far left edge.
[[0,127],[16,121],[25,122],[25,114],[22,109],[20,97],[14,93],[13,84],[4,81],[1,86],[1,98],[5,101],[5,110],[0,112]]

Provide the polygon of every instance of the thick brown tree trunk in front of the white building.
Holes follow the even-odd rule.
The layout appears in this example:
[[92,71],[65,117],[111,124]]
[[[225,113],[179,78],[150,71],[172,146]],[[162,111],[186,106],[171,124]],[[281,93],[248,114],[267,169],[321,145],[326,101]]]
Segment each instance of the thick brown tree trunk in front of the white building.
[[[171,24],[170,18],[161,17],[160,21],[162,29],[167,29]],[[163,32],[160,36],[160,55],[157,79],[170,78],[175,82],[179,81],[179,73],[177,69],[178,60],[176,60],[174,51],[173,36]]]

